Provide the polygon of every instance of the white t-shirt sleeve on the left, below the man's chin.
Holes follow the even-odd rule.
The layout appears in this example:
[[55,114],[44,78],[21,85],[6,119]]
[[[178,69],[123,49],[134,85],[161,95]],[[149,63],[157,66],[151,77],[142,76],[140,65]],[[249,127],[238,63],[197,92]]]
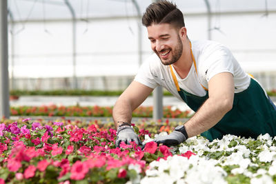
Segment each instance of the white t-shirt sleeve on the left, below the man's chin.
[[154,71],[152,70],[154,70],[154,65],[152,65],[150,59],[148,59],[139,68],[134,81],[142,83],[152,89],[156,88],[160,84],[155,81],[155,77],[153,76]]

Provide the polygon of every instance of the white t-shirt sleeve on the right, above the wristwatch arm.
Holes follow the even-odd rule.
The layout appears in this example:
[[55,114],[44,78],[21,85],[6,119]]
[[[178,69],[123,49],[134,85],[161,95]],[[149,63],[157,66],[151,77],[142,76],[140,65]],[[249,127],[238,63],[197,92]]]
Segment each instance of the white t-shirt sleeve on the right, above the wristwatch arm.
[[221,72],[230,72],[234,74],[233,55],[228,48],[223,45],[218,45],[211,51],[208,50],[202,54],[203,70],[201,70],[201,76],[204,76],[207,82],[212,79],[213,76]]

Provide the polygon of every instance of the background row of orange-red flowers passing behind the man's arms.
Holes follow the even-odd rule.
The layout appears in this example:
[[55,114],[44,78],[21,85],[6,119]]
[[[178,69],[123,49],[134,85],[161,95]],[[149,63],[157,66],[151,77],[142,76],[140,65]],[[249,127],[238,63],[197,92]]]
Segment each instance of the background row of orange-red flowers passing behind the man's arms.
[[[186,118],[190,116],[190,110],[181,111],[172,106],[164,107],[164,118]],[[12,116],[112,116],[112,107],[81,106],[20,106],[11,107]],[[152,107],[139,107],[133,113],[133,117],[152,117]]]

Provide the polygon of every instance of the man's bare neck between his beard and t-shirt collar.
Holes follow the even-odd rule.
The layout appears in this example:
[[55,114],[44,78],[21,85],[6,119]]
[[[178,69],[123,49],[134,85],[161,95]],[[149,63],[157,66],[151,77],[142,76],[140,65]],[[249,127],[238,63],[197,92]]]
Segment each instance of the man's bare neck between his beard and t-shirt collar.
[[175,68],[177,74],[181,77],[181,79],[186,78],[188,73],[190,72],[190,68],[193,65],[193,57],[190,52],[190,43],[189,40],[183,44],[182,55],[179,60],[172,64]]

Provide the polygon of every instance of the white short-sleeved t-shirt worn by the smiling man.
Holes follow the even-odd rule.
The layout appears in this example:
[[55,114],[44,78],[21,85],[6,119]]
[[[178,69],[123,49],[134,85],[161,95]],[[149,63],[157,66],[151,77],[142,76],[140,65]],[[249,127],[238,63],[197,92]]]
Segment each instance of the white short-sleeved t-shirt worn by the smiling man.
[[[233,74],[235,93],[242,92],[248,88],[250,76],[242,70],[228,48],[215,41],[191,41],[191,43],[198,75],[193,64],[186,78],[181,79],[172,66],[181,89],[196,96],[205,96],[206,90],[202,88],[201,84],[208,89],[208,81],[215,74],[221,72]],[[152,54],[146,59],[134,80],[147,85],[149,88],[156,88],[158,85],[161,85],[174,96],[177,96],[178,99],[182,100],[172,79],[170,66],[163,65],[156,54]]]

